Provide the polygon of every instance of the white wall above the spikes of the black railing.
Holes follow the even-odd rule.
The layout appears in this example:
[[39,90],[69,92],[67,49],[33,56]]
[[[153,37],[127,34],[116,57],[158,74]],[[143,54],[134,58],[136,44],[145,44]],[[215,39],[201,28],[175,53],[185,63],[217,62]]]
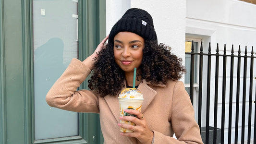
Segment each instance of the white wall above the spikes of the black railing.
[[186,0],[186,33],[210,35],[211,43],[241,50],[256,46],[256,5],[240,0]]

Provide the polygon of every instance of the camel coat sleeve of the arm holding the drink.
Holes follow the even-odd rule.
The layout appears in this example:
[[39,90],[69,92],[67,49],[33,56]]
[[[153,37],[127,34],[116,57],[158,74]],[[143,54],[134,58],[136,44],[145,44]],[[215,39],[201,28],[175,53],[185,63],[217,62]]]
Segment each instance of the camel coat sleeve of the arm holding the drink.
[[154,131],[154,144],[203,144],[194,108],[181,81],[173,89],[171,125],[177,140]]

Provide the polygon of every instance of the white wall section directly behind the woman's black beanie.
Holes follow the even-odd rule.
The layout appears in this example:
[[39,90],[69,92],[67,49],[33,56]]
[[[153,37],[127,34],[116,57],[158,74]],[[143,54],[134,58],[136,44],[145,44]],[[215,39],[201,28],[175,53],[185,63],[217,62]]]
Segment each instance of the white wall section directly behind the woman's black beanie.
[[107,34],[129,8],[146,10],[153,18],[158,43],[184,59],[185,0],[107,0]]

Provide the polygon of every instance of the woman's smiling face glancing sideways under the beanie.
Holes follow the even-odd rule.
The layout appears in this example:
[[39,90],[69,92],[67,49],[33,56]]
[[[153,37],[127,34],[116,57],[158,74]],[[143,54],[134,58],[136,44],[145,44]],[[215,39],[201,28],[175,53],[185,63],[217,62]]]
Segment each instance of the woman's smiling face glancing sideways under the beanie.
[[144,38],[132,32],[119,32],[114,37],[114,57],[124,72],[139,68],[144,48]]

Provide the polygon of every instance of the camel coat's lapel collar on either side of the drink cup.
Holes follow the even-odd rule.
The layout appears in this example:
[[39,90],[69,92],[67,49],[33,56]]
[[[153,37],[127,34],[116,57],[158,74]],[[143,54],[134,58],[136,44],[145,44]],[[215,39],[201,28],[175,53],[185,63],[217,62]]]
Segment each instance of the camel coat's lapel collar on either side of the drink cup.
[[[125,84],[125,83],[124,83]],[[149,85],[150,82],[146,82],[146,80],[143,80],[142,83],[139,84],[138,86],[138,90],[141,91],[141,93],[143,94],[144,97],[144,101],[142,103],[142,108],[141,108],[141,112],[143,113],[146,108],[149,106],[149,104],[152,102],[152,100],[154,99],[154,97],[157,95],[157,92],[152,89]],[[154,86],[160,86],[160,87],[165,87],[165,84],[153,84]],[[124,87],[122,88],[122,90],[126,88],[126,85],[124,85]],[[118,98],[115,96],[104,96],[105,101],[107,102],[112,114],[114,115],[114,117],[116,118],[117,122],[119,122],[119,101]]]

